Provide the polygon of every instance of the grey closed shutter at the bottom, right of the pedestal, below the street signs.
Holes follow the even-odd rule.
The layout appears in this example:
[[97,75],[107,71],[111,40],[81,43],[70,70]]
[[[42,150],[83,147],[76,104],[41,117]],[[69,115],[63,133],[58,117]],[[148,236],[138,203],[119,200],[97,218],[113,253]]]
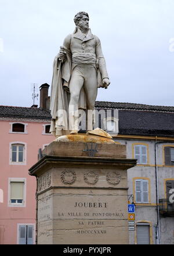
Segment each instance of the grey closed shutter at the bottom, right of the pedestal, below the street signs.
[[137,244],[150,244],[150,226],[147,224],[136,225]]

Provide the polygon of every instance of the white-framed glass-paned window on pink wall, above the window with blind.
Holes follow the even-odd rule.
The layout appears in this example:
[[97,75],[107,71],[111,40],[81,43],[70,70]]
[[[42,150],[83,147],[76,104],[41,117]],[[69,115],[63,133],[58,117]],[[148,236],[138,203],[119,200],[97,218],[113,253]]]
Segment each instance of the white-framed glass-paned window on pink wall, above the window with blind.
[[10,164],[26,164],[26,143],[10,143]]

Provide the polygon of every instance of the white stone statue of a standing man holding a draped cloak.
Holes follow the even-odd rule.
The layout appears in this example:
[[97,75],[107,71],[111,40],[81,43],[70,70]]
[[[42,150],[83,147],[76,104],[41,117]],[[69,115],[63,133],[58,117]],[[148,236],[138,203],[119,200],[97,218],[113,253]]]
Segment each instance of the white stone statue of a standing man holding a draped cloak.
[[110,84],[100,40],[89,28],[88,13],[77,13],[74,22],[75,31],[64,39],[53,64],[50,132],[56,136],[78,134],[78,109],[94,110],[97,88]]

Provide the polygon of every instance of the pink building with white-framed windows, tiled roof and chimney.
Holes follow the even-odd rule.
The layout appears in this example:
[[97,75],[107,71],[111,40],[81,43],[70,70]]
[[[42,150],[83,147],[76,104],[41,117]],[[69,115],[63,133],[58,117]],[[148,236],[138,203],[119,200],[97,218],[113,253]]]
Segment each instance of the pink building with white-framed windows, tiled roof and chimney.
[[0,106],[0,244],[35,244],[36,179],[28,169],[54,139],[49,125],[46,107]]

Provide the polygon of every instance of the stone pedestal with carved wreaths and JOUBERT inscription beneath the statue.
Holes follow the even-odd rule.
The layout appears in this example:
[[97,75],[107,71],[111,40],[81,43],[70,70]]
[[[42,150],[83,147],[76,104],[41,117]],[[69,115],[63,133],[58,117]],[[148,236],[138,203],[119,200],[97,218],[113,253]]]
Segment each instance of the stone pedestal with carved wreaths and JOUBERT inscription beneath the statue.
[[52,142],[42,153],[29,170],[38,244],[129,244],[126,146]]

